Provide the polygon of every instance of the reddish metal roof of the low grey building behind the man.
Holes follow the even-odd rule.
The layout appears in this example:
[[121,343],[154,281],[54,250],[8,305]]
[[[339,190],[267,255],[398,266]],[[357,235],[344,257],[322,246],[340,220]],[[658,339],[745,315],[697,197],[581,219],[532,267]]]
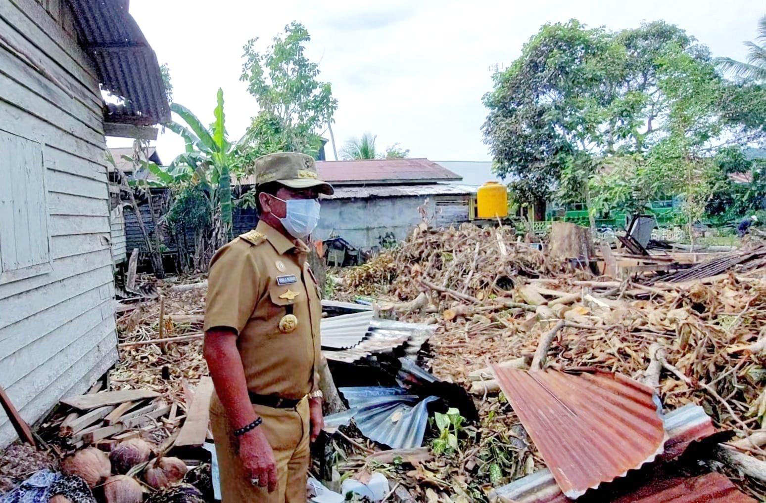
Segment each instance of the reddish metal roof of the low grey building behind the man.
[[[366,161],[317,161],[319,178],[333,185],[383,185],[388,183],[459,182],[462,177],[428,159],[372,159]],[[244,177],[253,185],[255,177]]]

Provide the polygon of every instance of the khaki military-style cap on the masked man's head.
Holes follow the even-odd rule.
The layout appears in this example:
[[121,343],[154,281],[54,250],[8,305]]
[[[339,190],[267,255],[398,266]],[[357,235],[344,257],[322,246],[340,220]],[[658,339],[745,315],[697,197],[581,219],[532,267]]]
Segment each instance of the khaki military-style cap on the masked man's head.
[[278,182],[291,189],[310,189],[332,195],[332,185],[319,180],[316,161],[310,155],[296,152],[266,154],[255,160],[255,185]]

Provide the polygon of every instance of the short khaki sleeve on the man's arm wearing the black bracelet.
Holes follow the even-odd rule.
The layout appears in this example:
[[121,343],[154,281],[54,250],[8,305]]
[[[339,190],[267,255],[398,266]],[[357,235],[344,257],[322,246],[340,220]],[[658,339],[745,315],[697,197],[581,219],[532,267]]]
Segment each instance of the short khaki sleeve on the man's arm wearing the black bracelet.
[[208,273],[205,332],[225,327],[239,335],[255,309],[260,274],[249,249],[226,245],[213,257]]

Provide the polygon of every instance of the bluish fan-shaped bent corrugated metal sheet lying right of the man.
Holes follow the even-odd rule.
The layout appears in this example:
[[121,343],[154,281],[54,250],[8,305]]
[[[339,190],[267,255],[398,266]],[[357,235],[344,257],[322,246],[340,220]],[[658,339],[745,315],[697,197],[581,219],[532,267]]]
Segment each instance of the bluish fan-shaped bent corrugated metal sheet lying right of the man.
[[[411,449],[423,445],[428,424],[428,404],[437,397],[421,400],[402,388],[372,386],[362,388],[339,388],[349,407],[356,427],[368,439],[382,443],[391,449]],[[349,412],[341,413],[343,417]],[[326,418],[335,424],[336,417]]]

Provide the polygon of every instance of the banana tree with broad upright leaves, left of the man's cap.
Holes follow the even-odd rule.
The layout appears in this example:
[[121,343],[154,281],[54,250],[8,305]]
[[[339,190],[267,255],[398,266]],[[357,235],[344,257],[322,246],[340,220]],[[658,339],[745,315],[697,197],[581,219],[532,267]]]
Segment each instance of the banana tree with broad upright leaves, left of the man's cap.
[[218,248],[231,239],[231,166],[234,150],[239,144],[231,143],[227,138],[223,89],[218,89],[218,102],[213,112],[215,121],[209,128],[183,105],[173,103],[170,109],[185,122],[171,122],[167,127],[184,139],[186,151],[175,157],[162,174],[156,175],[169,184],[201,185],[211,209],[211,245]]

